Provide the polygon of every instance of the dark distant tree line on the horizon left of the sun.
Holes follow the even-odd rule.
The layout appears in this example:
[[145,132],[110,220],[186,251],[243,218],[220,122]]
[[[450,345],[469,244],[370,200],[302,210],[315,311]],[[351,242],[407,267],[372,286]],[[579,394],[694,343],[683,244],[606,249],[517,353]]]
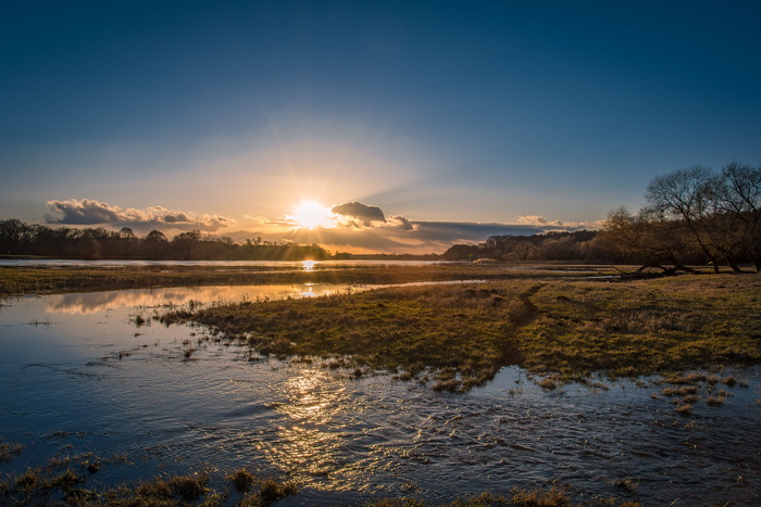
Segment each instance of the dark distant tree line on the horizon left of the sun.
[[51,258],[124,258],[172,261],[322,261],[330,254],[319,245],[271,243],[248,239],[182,232],[172,240],[152,230],[136,236],[128,227],[120,231],[98,228],[70,228],[26,224],[16,218],[0,220],[0,254]]

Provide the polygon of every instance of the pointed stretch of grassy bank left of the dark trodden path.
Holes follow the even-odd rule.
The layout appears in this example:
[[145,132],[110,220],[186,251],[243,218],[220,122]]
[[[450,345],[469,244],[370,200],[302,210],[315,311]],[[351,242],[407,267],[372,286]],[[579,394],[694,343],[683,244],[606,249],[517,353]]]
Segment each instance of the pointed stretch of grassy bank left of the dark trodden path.
[[507,290],[458,286],[389,288],[299,301],[215,306],[162,317],[192,319],[275,356],[340,357],[326,365],[367,367],[402,378],[432,371],[434,389],[467,390],[515,360],[506,340],[531,308]]

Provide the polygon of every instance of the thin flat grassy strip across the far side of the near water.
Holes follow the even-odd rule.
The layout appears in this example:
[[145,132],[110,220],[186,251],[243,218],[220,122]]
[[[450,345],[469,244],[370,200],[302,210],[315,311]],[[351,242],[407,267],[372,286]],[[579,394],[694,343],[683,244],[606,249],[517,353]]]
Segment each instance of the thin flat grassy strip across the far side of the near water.
[[[548,266],[548,274],[564,266]],[[574,275],[610,271],[607,267],[576,267]],[[0,267],[0,296],[87,292],[152,287],[267,284],[267,283],[407,283],[463,279],[534,277],[536,270],[469,264],[427,266],[317,265],[313,270],[273,267],[219,267],[162,265],[151,267]]]

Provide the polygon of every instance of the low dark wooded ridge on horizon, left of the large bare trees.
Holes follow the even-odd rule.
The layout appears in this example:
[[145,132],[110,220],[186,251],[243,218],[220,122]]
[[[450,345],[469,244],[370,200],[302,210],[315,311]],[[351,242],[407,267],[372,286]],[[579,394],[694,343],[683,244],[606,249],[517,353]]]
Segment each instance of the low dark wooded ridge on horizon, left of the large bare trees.
[[441,256],[447,261],[594,261],[602,255],[596,236],[591,230],[491,236],[479,244],[456,244]]

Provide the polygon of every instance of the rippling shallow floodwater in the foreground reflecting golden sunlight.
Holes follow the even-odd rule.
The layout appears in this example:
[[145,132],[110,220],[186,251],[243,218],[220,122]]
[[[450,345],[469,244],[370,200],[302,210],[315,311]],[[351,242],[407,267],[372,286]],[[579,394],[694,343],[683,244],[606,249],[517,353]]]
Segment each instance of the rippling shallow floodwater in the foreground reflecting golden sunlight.
[[[0,438],[25,448],[0,462],[0,473],[55,454],[92,452],[129,462],[103,466],[90,486],[249,467],[299,484],[282,505],[377,496],[444,502],[513,486],[548,489],[548,481],[570,485],[577,500],[759,502],[758,368],[732,372],[748,386],[725,388],[731,396],[723,406],[703,400],[685,416],[651,397],[663,386],[607,382],[608,390],[545,392],[511,367],[471,393],[436,393],[383,375],[349,379],[319,362],[250,362],[247,348],[216,342],[200,328],[135,324],[137,315],[191,300],[347,289],[194,288],[4,301]],[[197,350],[188,360],[190,348]],[[639,485],[633,493],[616,487],[623,479]]]

